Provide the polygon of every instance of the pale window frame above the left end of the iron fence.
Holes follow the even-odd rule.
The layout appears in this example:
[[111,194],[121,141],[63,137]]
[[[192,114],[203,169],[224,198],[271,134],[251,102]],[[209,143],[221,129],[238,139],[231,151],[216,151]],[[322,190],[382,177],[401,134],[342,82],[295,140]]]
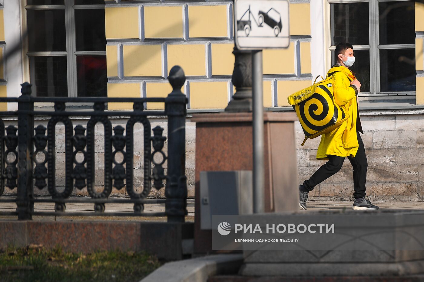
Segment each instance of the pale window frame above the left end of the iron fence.
[[[2,1],[2,0],[0,0]],[[104,55],[105,51],[76,51],[75,36],[75,10],[77,9],[103,9],[105,5],[74,5],[74,0],[64,0],[65,5],[26,5],[27,0],[22,0],[24,30],[27,30],[27,10],[65,10],[65,32],[66,32],[66,51],[62,52],[28,52],[28,37],[24,42],[25,53],[25,79],[31,82],[29,61],[32,56],[64,56],[67,61],[67,86],[68,96],[78,96],[78,80],[77,80],[77,55]],[[35,91],[33,91],[35,94]]]

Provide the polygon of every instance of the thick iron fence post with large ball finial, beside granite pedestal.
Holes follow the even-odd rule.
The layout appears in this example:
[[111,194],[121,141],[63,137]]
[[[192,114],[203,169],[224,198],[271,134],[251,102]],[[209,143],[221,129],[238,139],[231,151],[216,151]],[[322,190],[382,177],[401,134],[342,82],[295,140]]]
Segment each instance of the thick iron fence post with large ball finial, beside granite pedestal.
[[173,66],[168,80],[173,88],[165,99],[168,116],[168,173],[165,186],[165,213],[168,222],[184,222],[187,214],[187,177],[185,176],[185,119],[187,98],[181,92],[184,71]]

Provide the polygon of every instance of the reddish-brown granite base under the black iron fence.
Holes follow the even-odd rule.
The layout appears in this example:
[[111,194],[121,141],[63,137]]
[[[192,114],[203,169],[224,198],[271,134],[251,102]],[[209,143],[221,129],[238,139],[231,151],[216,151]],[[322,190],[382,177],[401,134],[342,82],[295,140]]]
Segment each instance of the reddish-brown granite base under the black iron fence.
[[181,260],[191,254],[193,223],[123,221],[0,221],[0,249],[31,244],[89,253],[141,251],[159,259]]

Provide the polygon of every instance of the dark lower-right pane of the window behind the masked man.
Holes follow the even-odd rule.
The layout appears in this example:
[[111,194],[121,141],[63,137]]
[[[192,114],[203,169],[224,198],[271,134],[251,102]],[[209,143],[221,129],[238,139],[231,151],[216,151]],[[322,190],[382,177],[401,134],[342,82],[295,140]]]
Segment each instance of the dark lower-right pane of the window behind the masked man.
[[381,91],[415,91],[415,49],[380,50]]

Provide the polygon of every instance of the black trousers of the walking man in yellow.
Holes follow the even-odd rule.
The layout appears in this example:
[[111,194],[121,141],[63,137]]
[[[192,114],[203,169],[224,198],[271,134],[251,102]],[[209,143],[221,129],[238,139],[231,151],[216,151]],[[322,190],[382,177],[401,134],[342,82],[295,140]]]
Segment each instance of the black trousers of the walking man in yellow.
[[[359,148],[355,157],[347,157],[353,167],[353,196],[355,199],[365,197],[365,182],[367,180],[367,156],[365,155],[364,143],[359,132],[357,133]],[[307,191],[312,191],[314,187],[332,175],[336,174],[343,166],[345,157],[328,155],[328,162],[321,166],[311,178],[303,182]]]

